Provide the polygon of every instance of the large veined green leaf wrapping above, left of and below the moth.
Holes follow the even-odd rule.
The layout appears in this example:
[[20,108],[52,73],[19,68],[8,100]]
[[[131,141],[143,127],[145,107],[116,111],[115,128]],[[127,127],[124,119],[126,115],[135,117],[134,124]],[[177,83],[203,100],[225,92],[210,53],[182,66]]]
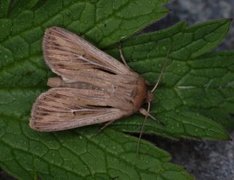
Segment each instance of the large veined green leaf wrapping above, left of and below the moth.
[[[0,166],[18,179],[192,179],[150,143],[95,126],[38,133],[28,126],[32,103],[51,71],[41,40],[62,26],[107,47],[163,17],[166,0],[0,1]],[[141,11],[139,11],[141,9]]]

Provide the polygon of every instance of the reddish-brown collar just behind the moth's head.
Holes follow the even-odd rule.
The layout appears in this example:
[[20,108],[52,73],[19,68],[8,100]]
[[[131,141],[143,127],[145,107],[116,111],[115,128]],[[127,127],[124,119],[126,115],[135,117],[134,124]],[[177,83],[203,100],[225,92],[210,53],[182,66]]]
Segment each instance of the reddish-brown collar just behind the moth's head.
[[139,77],[134,97],[134,111],[138,111],[147,98],[147,86],[145,80]]

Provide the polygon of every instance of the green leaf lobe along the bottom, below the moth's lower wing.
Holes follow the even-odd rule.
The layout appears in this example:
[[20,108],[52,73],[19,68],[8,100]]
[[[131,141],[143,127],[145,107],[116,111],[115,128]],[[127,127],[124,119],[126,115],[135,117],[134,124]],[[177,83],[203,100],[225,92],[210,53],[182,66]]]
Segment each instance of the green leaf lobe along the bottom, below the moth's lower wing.
[[[97,128],[35,133],[25,121],[5,117],[1,129],[1,166],[20,179],[190,179],[168,163],[168,153],[113,130]],[[17,140],[15,138],[17,137]]]

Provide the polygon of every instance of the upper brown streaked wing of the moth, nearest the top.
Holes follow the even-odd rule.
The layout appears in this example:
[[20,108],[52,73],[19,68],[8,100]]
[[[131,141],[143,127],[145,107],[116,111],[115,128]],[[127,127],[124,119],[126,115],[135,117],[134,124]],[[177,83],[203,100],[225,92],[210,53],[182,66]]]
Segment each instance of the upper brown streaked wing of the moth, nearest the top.
[[79,70],[99,69],[113,74],[129,74],[115,58],[63,28],[51,27],[43,39],[44,59],[51,70],[64,80],[76,77]]

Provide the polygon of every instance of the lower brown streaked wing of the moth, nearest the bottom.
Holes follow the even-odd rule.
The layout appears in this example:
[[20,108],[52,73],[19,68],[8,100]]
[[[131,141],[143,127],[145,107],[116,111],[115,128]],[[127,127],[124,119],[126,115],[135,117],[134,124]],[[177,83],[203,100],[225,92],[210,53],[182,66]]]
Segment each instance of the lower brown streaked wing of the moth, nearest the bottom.
[[42,93],[33,105],[30,127],[37,131],[60,131],[127,115],[123,110],[108,107],[103,97],[100,102],[95,98],[98,94],[87,96],[86,93],[74,88],[52,88]]

